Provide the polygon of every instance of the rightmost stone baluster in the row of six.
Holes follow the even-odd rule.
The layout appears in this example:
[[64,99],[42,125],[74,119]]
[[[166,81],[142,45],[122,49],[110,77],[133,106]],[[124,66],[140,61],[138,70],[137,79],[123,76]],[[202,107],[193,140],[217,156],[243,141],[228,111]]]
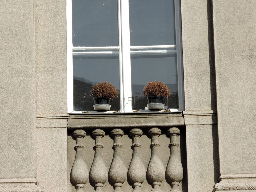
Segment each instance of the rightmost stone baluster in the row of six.
[[180,192],[179,183],[183,178],[183,168],[178,154],[179,143],[177,143],[180,130],[177,127],[171,127],[168,129],[167,134],[170,135],[170,158],[167,163],[165,178],[171,185],[171,192]]

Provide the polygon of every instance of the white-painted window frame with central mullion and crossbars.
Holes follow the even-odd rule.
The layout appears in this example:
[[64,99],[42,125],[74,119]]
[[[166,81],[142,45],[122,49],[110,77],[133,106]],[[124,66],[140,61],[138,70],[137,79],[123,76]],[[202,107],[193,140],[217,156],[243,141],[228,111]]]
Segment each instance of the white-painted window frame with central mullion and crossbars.
[[[170,112],[181,112],[184,110],[184,90],[183,90],[183,65],[182,65],[182,40],[181,40],[181,13],[180,0],[174,0],[175,10],[175,37],[176,45],[161,46],[130,46],[130,26],[123,23],[129,23],[129,1],[118,0],[118,37],[119,46],[108,47],[78,47],[73,46],[72,38],[72,0],[67,0],[67,112],[82,113],[82,111],[74,111],[73,103],[73,50],[83,50],[75,54],[90,53],[99,54],[99,52],[86,52],[85,50],[106,50],[101,54],[117,54],[119,52],[119,82],[120,82],[120,98],[124,98],[121,102],[121,112],[133,113],[132,110],[132,92],[131,92],[131,54],[133,53],[176,53],[177,55],[177,81],[179,94],[179,109],[170,109]],[[121,14],[122,13],[122,14]],[[121,16],[121,17],[120,17]],[[121,41],[121,43],[120,43]],[[176,48],[176,50],[134,50],[144,48]],[[133,50],[131,50],[133,49]],[[123,73],[125,71],[125,73]],[[125,87],[125,89],[123,88]],[[152,112],[151,112],[152,113]]]

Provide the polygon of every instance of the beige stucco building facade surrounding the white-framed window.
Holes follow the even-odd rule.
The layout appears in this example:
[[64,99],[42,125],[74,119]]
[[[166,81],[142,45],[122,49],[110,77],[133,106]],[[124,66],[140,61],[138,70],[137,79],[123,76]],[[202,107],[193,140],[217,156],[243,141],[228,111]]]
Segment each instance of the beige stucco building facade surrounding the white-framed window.
[[[179,144],[175,155],[182,164],[183,178],[181,184],[175,184],[177,190],[256,191],[256,2],[181,0],[183,111],[112,114],[68,113],[67,2],[1,3],[0,191],[76,191],[81,185],[74,185],[84,181],[79,183],[74,177],[80,174],[86,180],[83,177],[93,163],[95,129],[105,131],[102,151],[106,163],[106,167],[96,167],[96,173],[109,170],[113,138],[123,130],[120,141],[114,143],[122,143],[122,151],[118,151],[123,161],[117,174],[127,175],[133,152],[129,131],[134,128],[143,133],[139,167],[144,165],[145,170],[152,156],[150,144],[157,143],[160,160],[156,162],[162,162],[165,171],[170,154],[168,134],[173,129],[180,131],[175,132]],[[152,129],[158,133],[151,134]],[[79,153],[84,155],[88,172],[80,165],[73,177],[71,167],[79,148],[74,150],[74,131],[80,138],[86,132],[77,144],[84,146]],[[158,135],[158,141],[152,135]],[[128,174],[129,182],[125,178],[123,191],[133,190],[130,177]],[[160,187],[169,191],[173,185],[165,177]],[[157,176],[149,178],[147,173],[142,191],[150,191],[150,184],[159,182]],[[84,191],[94,191],[93,179],[90,176]],[[112,180],[102,189],[114,190]]]

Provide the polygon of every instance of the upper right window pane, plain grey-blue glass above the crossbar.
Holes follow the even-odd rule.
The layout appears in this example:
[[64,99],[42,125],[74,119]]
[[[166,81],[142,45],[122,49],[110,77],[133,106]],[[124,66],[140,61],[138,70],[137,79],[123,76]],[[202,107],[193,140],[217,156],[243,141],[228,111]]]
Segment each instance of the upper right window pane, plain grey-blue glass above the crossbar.
[[175,45],[174,0],[129,0],[130,43]]

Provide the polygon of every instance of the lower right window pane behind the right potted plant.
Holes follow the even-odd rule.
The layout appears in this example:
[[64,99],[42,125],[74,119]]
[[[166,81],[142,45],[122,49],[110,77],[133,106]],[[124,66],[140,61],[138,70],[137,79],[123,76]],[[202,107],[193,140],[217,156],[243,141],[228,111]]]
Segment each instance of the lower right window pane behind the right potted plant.
[[[131,54],[131,88],[133,96],[144,96],[144,86],[150,81],[165,83],[171,92],[168,108],[178,109],[178,81],[177,81],[176,53]],[[138,93],[138,94],[136,94]],[[133,109],[145,109],[146,98],[136,102]],[[145,101],[145,102],[143,102]],[[167,103],[167,101],[166,101]]]

